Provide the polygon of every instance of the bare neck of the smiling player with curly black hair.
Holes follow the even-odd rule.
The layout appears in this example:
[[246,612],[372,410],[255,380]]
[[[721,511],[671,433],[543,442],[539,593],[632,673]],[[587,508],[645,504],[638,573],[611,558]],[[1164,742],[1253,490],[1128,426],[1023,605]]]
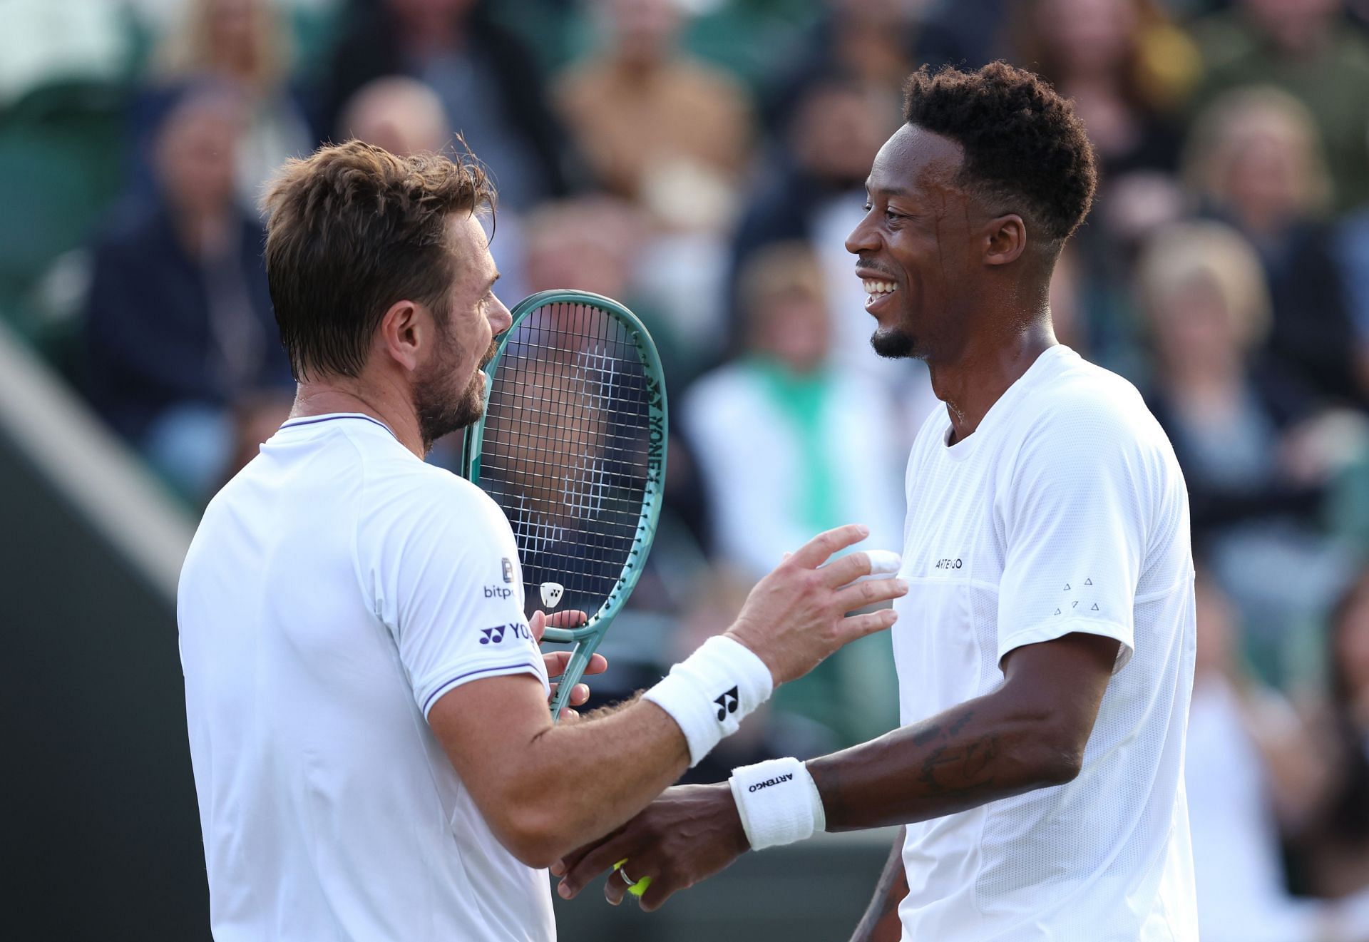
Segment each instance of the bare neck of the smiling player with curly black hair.
[[1008,387],[1057,342],[1050,319],[1036,319],[1008,338],[971,342],[954,363],[928,363],[932,392],[950,415],[951,444],[972,435]]

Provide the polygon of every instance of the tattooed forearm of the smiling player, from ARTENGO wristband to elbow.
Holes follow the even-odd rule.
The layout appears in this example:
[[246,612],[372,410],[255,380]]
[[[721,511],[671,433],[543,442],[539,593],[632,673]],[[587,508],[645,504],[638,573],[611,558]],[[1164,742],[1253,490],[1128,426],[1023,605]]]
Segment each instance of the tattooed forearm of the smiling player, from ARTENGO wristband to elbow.
[[909,824],[1068,782],[1077,756],[1006,689],[813,759],[828,831]]

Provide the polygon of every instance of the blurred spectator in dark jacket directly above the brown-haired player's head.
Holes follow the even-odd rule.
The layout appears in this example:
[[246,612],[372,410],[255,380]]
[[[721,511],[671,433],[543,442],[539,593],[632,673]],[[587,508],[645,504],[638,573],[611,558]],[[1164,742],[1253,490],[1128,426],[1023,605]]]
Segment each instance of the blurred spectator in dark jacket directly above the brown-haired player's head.
[[537,59],[490,16],[485,0],[371,0],[334,51],[323,89],[323,134],[345,133],[348,99],[385,75],[422,79],[448,122],[498,179],[516,211],[565,193],[565,144]]

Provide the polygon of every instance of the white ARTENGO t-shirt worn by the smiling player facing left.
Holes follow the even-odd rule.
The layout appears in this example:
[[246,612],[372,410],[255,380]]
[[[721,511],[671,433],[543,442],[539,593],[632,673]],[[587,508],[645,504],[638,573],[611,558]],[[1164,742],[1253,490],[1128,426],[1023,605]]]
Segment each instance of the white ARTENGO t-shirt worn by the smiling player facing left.
[[1131,383],[1065,346],[972,435],[947,446],[949,431],[938,409],[908,464],[902,722],[995,690],[1021,645],[1084,631],[1121,649],[1073,782],[908,826],[904,939],[1195,941],[1194,572],[1173,449]]

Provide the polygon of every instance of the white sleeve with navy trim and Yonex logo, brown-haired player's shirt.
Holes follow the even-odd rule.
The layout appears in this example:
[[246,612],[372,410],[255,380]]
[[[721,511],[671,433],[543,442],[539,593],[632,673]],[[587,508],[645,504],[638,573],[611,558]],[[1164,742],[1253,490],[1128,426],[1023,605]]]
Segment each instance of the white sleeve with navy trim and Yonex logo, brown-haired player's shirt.
[[508,520],[474,485],[439,485],[387,501],[359,534],[359,557],[374,541],[363,587],[424,717],[444,694],[482,678],[531,674],[549,690]]

